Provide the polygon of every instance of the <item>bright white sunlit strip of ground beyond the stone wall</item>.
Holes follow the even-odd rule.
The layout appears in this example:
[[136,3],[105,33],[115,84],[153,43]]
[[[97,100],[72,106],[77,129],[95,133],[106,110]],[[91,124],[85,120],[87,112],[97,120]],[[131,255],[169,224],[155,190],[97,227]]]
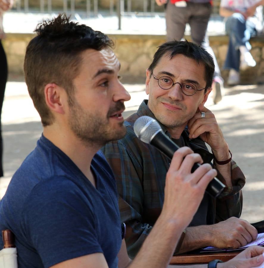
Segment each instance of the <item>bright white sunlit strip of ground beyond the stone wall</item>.
[[[9,33],[32,33],[39,22],[43,19],[51,19],[58,13],[40,14],[40,13],[20,13],[10,10],[4,15],[4,29]],[[121,30],[118,30],[118,17],[104,14],[99,11],[98,15],[91,15],[89,18],[82,13],[76,12],[71,15],[71,19],[81,24],[87,24],[94,30],[98,30],[107,34],[154,34],[165,35],[166,23],[164,13],[156,13],[155,15],[123,15],[121,19]],[[218,14],[212,14],[207,32],[209,35],[224,34],[225,27],[223,17]],[[19,23],[14,23],[14,21]],[[190,34],[190,26],[187,24],[186,34]]]

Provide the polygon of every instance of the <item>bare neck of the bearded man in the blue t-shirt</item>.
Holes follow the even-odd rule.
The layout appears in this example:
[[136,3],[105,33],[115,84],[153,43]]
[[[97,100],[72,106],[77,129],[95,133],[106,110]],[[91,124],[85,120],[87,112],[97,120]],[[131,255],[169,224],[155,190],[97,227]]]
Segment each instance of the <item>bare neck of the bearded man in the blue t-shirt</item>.
[[100,146],[96,147],[86,144],[71,131],[63,131],[63,128],[54,125],[44,127],[43,135],[62,150],[95,186],[95,179],[90,170],[90,166]]

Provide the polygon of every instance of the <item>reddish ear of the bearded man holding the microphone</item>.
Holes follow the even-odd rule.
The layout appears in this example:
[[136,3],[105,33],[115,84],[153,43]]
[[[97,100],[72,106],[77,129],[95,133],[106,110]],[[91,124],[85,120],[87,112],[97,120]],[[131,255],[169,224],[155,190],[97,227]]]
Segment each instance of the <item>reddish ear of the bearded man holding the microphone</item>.
[[49,109],[55,113],[64,114],[63,95],[66,94],[65,90],[55,83],[49,83],[44,88],[44,94]]

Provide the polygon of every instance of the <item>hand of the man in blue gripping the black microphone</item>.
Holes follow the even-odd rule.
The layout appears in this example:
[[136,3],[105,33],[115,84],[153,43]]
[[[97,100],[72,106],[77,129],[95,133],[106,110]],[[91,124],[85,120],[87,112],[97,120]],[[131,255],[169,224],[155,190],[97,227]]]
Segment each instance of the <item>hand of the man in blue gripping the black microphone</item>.
[[193,218],[208,183],[216,176],[210,164],[202,164],[191,173],[194,163],[202,164],[199,154],[188,147],[178,149],[171,160],[165,182],[162,218],[185,228]]

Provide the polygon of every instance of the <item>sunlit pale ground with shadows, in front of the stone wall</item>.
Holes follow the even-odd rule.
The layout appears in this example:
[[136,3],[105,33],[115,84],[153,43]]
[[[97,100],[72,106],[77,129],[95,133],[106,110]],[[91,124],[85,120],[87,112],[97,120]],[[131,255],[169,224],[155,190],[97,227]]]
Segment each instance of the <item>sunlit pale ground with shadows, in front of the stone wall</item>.
[[[14,79],[12,79],[14,80]],[[138,109],[144,98],[143,84],[125,84],[131,94],[124,118]],[[264,86],[238,85],[226,88],[217,105],[209,97],[207,107],[215,113],[229,144],[233,159],[247,178],[243,189],[241,218],[249,222],[264,219]],[[42,126],[24,82],[8,82],[3,111],[4,177],[0,179],[0,197],[6,191],[15,170],[35,148]]]

